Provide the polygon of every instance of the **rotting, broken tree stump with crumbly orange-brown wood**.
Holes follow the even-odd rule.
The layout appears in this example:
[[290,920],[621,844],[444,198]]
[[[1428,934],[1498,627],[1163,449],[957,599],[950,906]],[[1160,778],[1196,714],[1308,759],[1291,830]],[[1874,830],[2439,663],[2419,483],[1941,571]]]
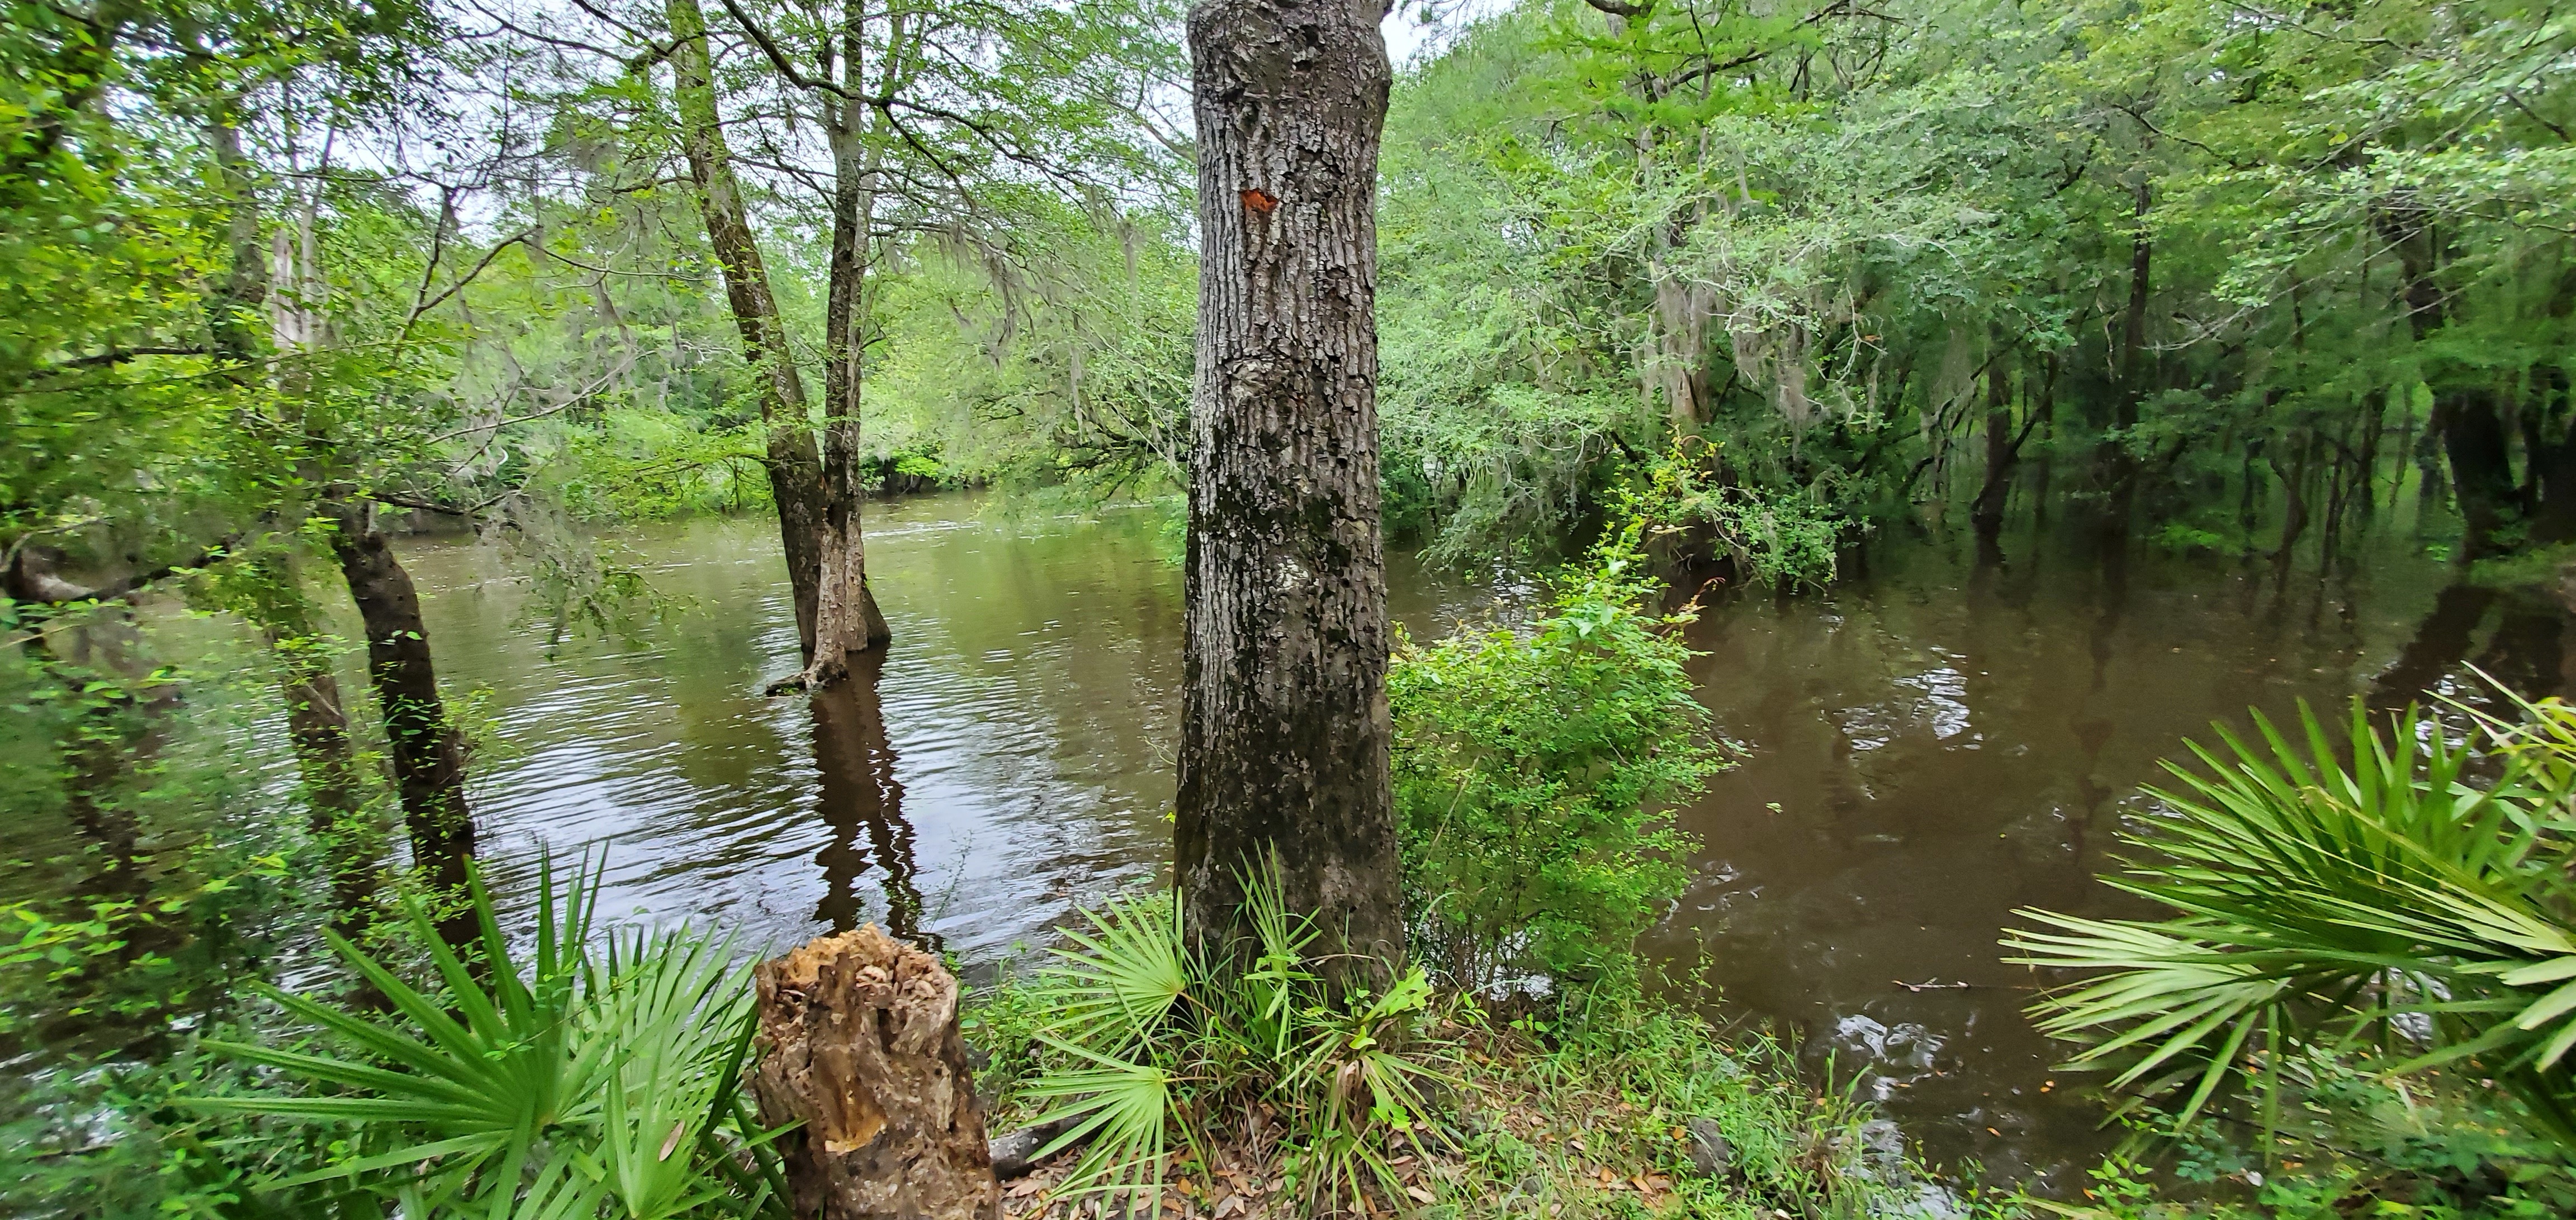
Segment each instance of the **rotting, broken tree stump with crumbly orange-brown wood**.
[[760,963],[760,1066],[796,1215],[811,1220],[997,1220],[958,981],[876,924]]

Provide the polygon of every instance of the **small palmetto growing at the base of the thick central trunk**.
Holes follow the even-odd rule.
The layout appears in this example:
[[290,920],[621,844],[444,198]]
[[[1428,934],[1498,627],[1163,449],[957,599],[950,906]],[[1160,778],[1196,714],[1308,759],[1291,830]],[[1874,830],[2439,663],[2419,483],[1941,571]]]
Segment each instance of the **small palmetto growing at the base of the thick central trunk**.
[[1028,1084],[1056,1102],[1046,1120],[1066,1122],[1041,1153],[1087,1140],[1061,1189],[1159,1212],[1175,1138],[1206,1153],[1203,1117],[1265,1104],[1283,1114],[1309,1210],[1358,1205],[1368,1181],[1401,1192],[1383,1145],[1414,1127],[1419,1084],[1440,1076],[1412,1037],[1430,983],[1417,968],[1383,994],[1334,999],[1306,965],[1314,919],[1278,893],[1275,862],[1244,875],[1239,952],[1195,952],[1170,896],[1113,901],[1066,929],[1072,947],[1030,996],[1054,1063]]

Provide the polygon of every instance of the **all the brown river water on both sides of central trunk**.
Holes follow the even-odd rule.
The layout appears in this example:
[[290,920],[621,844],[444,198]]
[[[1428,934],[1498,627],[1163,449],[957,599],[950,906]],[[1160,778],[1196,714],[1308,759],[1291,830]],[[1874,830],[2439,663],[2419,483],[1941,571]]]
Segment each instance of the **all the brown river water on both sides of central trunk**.
[[[549,649],[526,589],[469,543],[417,541],[443,674],[484,687],[487,855],[608,852],[608,911],[711,916],[757,942],[860,919],[976,968],[1167,852],[1180,571],[1157,515],[1010,520],[963,497],[873,507],[896,643],[873,685],[760,698],[796,638],[757,520],[616,543],[696,602],[636,638]],[[2470,690],[2468,664],[2558,690],[2561,610],[2445,592],[2403,538],[2329,579],[2022,538],[2002,569],[1888,541],[1829,597],[1716,597],[1703,700],[1744,762],[1682,824],[1705,844],[1651,950],[1703,963],[1710,1012],[1798,1040],[1945,1163],[2071,1181],[2107,1145],[2081,1081],[1999,965],[2020,906],[2112,911],[2092,878],[2136,785],[2246,705]],[[1414,633],[1492,592],[1396,564]],[[1965,986],[1960,986],[1965,983]]]

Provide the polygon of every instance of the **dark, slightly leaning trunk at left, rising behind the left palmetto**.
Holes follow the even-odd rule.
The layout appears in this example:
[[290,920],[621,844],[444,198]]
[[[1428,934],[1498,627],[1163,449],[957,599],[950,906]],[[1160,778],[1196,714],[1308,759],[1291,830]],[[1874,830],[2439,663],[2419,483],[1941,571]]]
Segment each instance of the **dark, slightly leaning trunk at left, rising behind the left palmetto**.
[[[430,664],[430,633],[420,623],[420,595],[402,571],[394,546],[376,530],[366,502],[332,504],[332,551],[348,595],[366,628],[366,679],[384,710],[384,746],[394,759],[402,826],[412,839],[412,865],[440,888],[459,893],[474,860],[474,816],[466,811],[464,734],[448,723]],[[477,937],[471,916],[448,916],[440,934],[451,945]]]

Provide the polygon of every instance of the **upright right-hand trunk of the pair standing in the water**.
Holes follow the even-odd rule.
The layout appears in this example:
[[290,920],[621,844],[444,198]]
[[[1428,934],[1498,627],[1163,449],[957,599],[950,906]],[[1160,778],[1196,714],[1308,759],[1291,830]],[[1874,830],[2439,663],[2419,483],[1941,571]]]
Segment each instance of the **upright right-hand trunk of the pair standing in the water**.
[[[891,15],[891,44],[902,44],[902,13]],[[894,638],[886,615],[868,589],[868,551],[860,541],[858,391],[866,373],[868,324],[868,229],[876,219],[876,157],[868,149],[868,108],[860,100],[866,62],[866,8],[850,0],[842,13],[842,98],[827,103],[824,134],[832,144],[832,270],[824,296],[824,432],[822,432],[822,520],[817,535],[819,582],[814,600],[814,641],[796,682],[822,687],[850,672],[850,654],[881,649]]]

